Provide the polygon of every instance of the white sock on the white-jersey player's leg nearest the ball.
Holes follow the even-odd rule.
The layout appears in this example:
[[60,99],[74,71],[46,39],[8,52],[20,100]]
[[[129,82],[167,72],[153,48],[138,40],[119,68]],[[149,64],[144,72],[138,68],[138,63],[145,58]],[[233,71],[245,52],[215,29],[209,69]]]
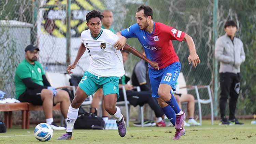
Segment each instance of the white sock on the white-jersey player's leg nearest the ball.
[[68,111],[68,116],[67,116],[67,132],[72,132],[74,124],[75,124],[75,120],[77,118],[78,115],[78,110],[79,108],[75,109],[72,108],[72,106],[69,106],[69,111]]

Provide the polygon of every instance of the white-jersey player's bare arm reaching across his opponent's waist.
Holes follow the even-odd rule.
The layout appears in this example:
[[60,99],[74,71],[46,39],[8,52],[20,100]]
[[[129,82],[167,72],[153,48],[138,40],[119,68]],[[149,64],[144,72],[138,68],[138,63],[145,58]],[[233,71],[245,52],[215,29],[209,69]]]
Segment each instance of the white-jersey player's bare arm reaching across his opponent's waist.
[[153,62],[153,61],[147,59],[147,57],[145,57],[143,54],[141,54],[138,50],[134,49],[130,45],[125,44],[124,50],[129,51],[133,55],[135,55],[135,56],[141,58],[142,60],[146,61],[147,63],[149,63],[153,68],[159,70],[158,63]]

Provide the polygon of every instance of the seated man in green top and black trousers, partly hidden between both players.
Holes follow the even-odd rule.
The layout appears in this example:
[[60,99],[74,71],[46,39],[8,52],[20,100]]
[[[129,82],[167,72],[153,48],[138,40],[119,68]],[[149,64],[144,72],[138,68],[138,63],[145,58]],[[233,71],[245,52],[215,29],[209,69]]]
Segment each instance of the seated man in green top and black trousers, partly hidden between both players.
[[[122,55],[123,55],[123,62],[128,59],[128,51],[122,50]],[[119,99],[117,101],[124,101],[124,94],[122,90],[122,86],[125,86],[126,89],[126,95],[127,95],[127,100],[130,102],[130,104],[134,107],[140,105],[143,106],[145,103],[148,103],[151,109],[155,112],[155,115],[157,117],[156,119],[156,125],[159,127],[165,127],[165,122],[163,122],[162,117],[164,116],[163,111],[159,107],[157,101],[151,96],[151,91],[141,91],[137,92],[133,90],[133,85],[127,84],[127,82],[130,80],[129,77],[127,76],[122,76],[119,79]],[[151,123],[146,123],[144,126],[151,125]],[[140,125],[134,125],[134,126],[140,126]]]

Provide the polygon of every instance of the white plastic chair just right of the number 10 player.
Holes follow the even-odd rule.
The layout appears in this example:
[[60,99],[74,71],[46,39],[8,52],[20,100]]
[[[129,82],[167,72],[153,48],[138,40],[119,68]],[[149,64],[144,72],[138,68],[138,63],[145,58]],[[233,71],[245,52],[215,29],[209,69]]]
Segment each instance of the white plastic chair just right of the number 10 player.
[[[181,94],[187,94],[188,90],[195,90],[196,91],[196,96],[197,99],[195,102],[198,103],[198,109],[199,109],[199,121],[200,124],[202,125],[202,111],[201,111],[201,103],[202,104],[208,104],[210,103],[211,105],[211,124],[213,125],[213,102],[212,102],[212,93],[209,85],[192,85],[192,86],[187,86],[185,78],[183,76],[183,73],[179,74],[179,77],[177,79],[177,83],[179,84],[180,89],[178,91],[175,91],[176,93],[181,93]],[[208,90],[208,96],[209,99],[200,99],[200,95],[198,92],[198,89],[205,89],[207,88]]]

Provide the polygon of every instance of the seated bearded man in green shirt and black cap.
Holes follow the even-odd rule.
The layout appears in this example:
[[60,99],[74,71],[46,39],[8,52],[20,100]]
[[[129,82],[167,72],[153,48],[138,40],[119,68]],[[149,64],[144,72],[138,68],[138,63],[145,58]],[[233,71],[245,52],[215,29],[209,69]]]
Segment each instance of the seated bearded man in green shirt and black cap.
[[16,99],[20,102],[30,102],[42,105],[46,123],[54,130],[65,130],[53,122],[53,106],[60,102],[62,115],[67,119],[70,105],[69,94],[63,90],[55,90],[45,77],[42,65],[37,62],[39,49],[28,45],[25,49],[25,59],[18,65],[14,77]]

